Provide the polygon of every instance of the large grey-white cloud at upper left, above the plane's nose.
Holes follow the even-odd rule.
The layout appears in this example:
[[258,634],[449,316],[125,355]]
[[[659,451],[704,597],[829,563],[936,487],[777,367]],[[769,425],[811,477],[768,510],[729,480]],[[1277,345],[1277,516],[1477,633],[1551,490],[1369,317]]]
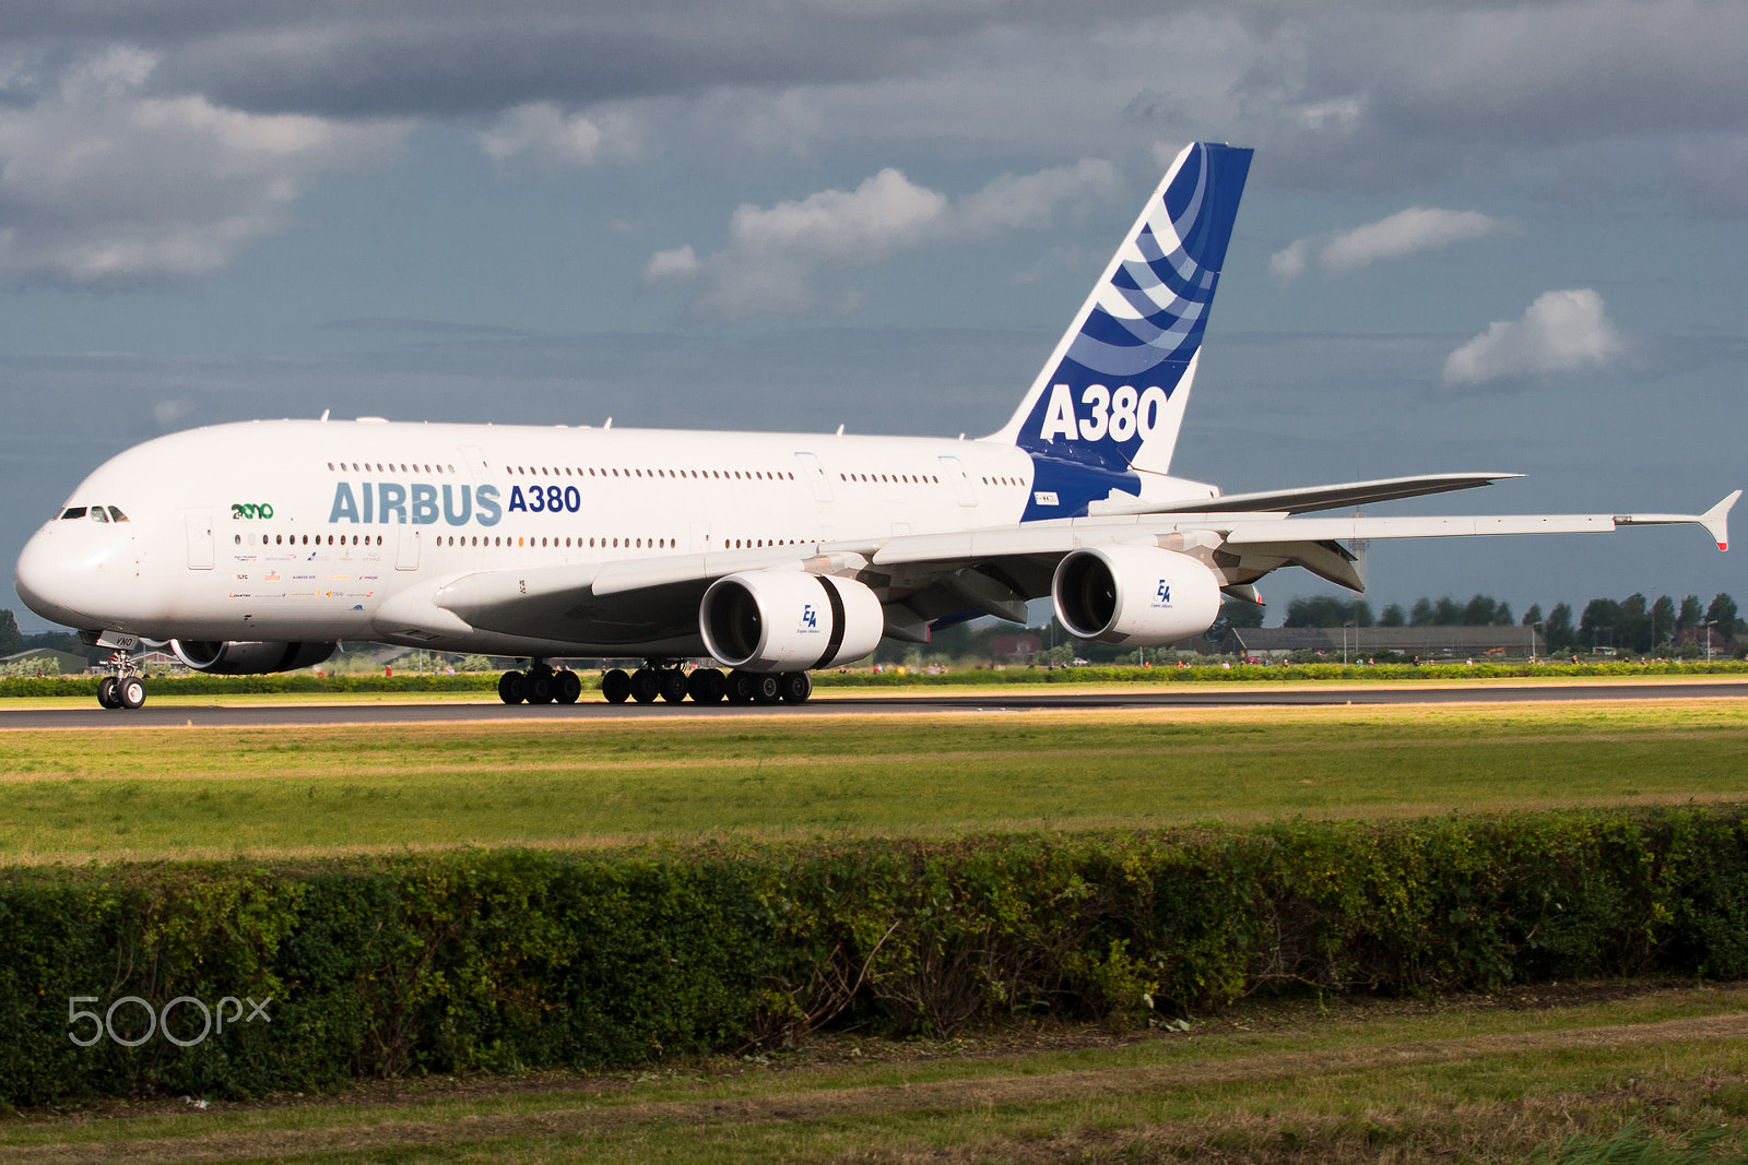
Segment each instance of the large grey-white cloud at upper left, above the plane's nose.
[[0,110],[0,272],[96,285],[215,271],[281,227],[318,173],[376,162],[406,133],[149,96],[156,65],[114,47]]

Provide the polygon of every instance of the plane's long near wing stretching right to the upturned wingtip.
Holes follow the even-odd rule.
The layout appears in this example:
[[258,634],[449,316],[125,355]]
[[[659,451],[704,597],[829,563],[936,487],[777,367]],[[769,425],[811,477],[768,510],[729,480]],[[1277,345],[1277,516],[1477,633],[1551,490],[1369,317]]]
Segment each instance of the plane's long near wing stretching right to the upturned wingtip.
[[610,655],[622,648],[624,655],[703,655],[697,604],[710,583],[741,571],[787,569],[857,578],[881,599],[888,636],[926,641],[932,627],[977,615],[1024,622],[1026,603],[1047,596],[1056,564],[1082,547],[1176,550],[1206,564],[1227,592],[1246,597],[1253,597],[1252,583],[1283,566],[1302,566],[1337,585],[1365,590],[1360,555],[1344,543],[1697,524],[1724,550],[1729,510],[1738,498],[1739,489],[1704,514],[1306,519],[1281,512],[1204,510],[1096,515],[818,547],[475,571],[397,594],[378,610],[374,624],[393,641],[491,632],[551,646],[549,653],[575,648],[575,653]]

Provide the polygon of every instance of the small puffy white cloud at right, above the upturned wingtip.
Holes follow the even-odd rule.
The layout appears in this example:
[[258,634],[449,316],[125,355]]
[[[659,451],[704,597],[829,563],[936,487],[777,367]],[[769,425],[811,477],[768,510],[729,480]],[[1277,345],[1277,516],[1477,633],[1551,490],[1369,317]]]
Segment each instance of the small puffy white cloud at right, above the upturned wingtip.
[[1444,362],[1446,384],[1601,369],[1626,351],[1591,288],[1543,292],[1523,320],[1495,320]]

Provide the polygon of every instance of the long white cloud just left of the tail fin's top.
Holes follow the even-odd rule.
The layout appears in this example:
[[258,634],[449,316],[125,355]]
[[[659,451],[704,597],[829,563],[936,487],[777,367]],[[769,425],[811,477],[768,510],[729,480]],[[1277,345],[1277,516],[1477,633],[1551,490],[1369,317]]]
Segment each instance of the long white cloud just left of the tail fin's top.
[[729,245],[699,260],[687,246],[657,252],[645,283],[701,276],[690,311],[701,316],[801,314],[827,302],[858,306],[860,295],[818,292],[829,271],[867,267],[925,243],[986,239],[1047,225],[1054,210],[1115,187],[1110,162],[1086,159],[1035,175],[1002,175],[956,203],[886,168],[855,190],[820,190],[771,208],[741,204],[729,220]]

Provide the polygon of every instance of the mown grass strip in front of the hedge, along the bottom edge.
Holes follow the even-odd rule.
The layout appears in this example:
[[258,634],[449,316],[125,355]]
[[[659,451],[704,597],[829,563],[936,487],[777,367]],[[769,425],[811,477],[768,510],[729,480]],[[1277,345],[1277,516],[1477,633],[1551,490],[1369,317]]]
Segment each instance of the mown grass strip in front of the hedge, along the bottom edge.
[[44,1114],[0,1121],[0,1165],[1550,1162],[1596,1160],[1571,1155],[1573,1139],[1624,1128],[1652,1148],[1699,1134],[1739,1151],[1745,1036],[1748,990],[1619,985],[1239,1006],[1175,1032],[1017,1027],[907,1044],[850,1032],[593,1078]]

